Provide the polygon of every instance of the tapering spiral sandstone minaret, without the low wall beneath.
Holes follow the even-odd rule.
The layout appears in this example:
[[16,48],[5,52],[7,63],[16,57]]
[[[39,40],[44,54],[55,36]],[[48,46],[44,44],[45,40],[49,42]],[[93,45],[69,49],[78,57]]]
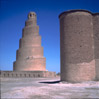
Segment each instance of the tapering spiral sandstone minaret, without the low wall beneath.
[[41,47],[41,36],[35,12],[28,14],[13,69],[14,71],[46,71],[46,58],[43,57],[43,47]]

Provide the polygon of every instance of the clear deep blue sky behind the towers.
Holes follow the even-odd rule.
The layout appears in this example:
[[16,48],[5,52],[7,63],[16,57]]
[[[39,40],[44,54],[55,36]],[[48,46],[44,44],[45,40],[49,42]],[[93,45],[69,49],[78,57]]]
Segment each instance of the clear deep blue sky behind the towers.
[[37,14],[46,68],[60,72],[59,14],[71,9],[99,12],[99,0],[0,0],[0,69],[12,70],[27,14]]

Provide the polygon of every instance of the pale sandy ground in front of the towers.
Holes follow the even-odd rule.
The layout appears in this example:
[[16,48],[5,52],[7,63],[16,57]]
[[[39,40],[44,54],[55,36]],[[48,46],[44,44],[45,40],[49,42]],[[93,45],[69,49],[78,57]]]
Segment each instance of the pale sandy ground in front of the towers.
[[62,83],[59,78],[1,78],[1,99],[99,98],[99,81]]

